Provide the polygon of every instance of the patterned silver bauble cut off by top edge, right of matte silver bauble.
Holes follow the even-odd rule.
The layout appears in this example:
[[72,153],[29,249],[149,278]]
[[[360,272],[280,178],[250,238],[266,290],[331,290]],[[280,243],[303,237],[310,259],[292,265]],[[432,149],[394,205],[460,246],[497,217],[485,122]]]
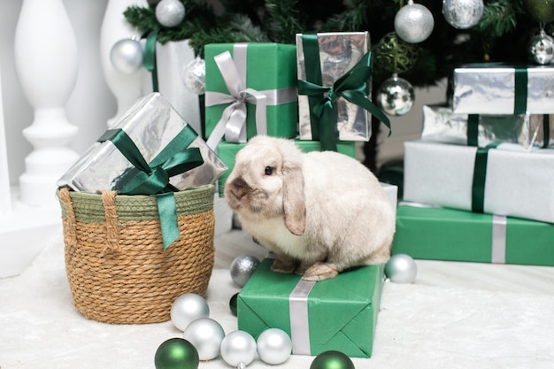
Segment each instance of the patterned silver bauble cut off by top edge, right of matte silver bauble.
[[442,0],[442,15],[450,26],[467,29],[481,20],[485,4],[483,0]]

